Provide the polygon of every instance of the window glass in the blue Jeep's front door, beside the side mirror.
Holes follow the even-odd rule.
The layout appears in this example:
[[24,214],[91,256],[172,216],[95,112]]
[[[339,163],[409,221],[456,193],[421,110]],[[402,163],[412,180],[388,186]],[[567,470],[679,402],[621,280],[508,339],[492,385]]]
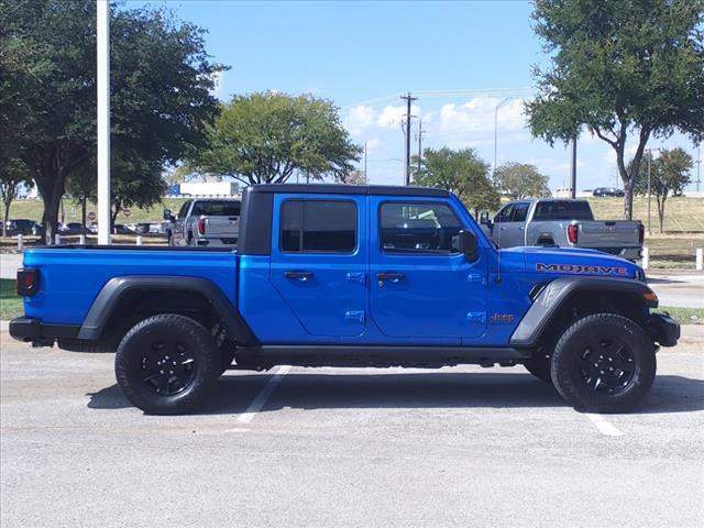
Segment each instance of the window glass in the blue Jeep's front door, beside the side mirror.
[[459,253],[462,224],[443,204],[383,204],[380,222],[386,253]]

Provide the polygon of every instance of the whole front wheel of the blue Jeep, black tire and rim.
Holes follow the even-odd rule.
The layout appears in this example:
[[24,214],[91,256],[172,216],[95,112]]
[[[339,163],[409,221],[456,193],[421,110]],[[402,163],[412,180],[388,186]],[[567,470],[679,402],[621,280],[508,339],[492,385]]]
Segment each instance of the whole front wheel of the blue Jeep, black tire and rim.
[[656,376],[654,348],[630,319],[615,314],[586,316],[558,341],[550,375],[574,408],[625,413],[650,391]]

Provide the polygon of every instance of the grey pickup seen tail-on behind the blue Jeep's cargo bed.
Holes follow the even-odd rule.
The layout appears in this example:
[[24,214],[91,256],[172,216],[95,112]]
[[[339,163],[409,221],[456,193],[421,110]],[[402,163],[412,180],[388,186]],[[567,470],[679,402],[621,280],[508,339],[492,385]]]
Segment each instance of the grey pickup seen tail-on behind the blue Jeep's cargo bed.
[[164,210],[168,245],[235,246],[240,231],[240,200],[187,200],[176,217]]

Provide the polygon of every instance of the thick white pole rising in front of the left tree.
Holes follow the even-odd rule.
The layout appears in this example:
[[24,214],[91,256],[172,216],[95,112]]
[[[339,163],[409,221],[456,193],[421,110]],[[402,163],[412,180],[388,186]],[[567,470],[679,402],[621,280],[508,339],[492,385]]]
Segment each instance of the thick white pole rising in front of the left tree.
[[97,0],[98,243],[110,243],[110,2]]

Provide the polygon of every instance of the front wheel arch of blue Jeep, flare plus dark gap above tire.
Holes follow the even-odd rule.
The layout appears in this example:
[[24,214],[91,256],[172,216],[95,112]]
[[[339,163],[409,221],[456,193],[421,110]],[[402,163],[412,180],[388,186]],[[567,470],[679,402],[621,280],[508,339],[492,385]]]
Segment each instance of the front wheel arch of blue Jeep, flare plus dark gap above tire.
[[[646,297],[648,295],[648,297]],[[657,308],[650,288],[635,280],[601,277],[559,277],[535,298],[512,334],[512,346],[535,348],[550,330],[559,330],[578,315],[610,311],[644,323],[647,309]]]

